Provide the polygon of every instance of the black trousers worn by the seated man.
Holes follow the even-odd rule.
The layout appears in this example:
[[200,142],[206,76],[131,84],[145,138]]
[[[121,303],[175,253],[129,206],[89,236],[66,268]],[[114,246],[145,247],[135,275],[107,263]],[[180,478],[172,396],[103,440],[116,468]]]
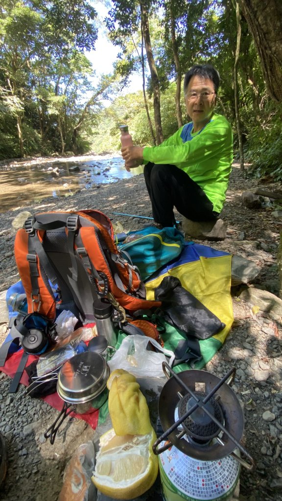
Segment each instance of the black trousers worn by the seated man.
[[149,162],[144,177],[153,217],[163,226],[175,224],[174,207],[192,221],[210,221],[218,216],[202,188],[175,165]]

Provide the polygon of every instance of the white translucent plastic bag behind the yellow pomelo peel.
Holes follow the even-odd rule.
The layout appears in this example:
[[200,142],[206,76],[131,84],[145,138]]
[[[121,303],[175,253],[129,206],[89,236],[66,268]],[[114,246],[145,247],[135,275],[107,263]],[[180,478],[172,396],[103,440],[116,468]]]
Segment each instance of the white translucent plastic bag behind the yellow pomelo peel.
[[[157,348],[158,353],[150,351],[150,345]],[[162,348],[155,339],[134,334],[123,339],[112,359],[108,361],[108,366],[111,372],[124,369],[136,377],[163,377],[162,363],[167,361],[165,355],[171,357],[171,365],[174,360],[172,351]]]

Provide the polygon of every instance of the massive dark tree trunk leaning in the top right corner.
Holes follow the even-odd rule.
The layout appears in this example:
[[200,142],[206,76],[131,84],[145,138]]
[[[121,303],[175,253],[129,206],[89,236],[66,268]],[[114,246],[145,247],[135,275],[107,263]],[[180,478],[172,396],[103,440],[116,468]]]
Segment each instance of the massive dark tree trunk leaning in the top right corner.
[[261,60],[267,90],[282,101],[282,2],[281,0],[240,0]]

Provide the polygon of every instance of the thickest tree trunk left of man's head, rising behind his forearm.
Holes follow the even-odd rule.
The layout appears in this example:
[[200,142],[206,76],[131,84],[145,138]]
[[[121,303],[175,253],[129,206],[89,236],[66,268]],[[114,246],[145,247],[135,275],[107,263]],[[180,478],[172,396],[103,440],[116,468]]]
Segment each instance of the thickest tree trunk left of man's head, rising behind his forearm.
[[148,11],[143,2],[140,2],[140,10],[141,10],[141,27],[144,35],[145,49],[151,72],[153,92],[154,92],[154,116],[155,116],[156,140],[157,144],[161,144],[164,140],[164,136],[163,136],[162,119],[161,119],[161,94],[160,94],[159,76],[152,51]]

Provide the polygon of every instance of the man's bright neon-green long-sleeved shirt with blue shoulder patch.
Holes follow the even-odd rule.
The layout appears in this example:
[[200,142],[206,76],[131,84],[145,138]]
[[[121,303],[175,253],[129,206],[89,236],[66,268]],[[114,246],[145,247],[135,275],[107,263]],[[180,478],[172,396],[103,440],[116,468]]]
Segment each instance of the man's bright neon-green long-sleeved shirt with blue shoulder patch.
[[233,161],[233,137],[229,122],[214,114],[199,132],[193,133],[193,122],[181,127],[159,146],[145,147],[145,163],[173,164],[201,186],[220,212],[225,200]]

